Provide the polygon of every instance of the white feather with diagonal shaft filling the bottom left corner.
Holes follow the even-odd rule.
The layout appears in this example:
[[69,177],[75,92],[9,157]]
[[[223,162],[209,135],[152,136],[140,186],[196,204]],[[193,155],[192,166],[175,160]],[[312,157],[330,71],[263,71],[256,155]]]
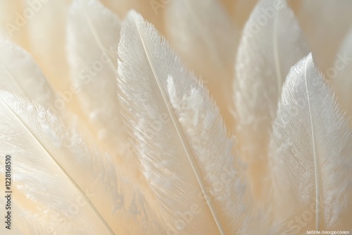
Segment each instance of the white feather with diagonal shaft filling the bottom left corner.
[[[0,115],[0,148],[12,156],[15,210],[25,206],[56,234],[156,234],[147,192],[120,175],[111,155],[48,110],[4,91]],[[4,178],[4,165],[0,172]],[[20,215],[13,216],[13,227],[23,225]]]

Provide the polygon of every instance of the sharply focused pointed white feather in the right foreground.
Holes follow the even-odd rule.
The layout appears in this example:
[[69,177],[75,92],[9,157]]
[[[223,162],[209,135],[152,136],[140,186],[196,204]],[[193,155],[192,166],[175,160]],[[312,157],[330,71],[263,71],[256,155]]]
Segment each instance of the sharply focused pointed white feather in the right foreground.
[[287,76],[270,143],[273,202],[293,234],[351,229],[351,155],[352,132],[310,53]]

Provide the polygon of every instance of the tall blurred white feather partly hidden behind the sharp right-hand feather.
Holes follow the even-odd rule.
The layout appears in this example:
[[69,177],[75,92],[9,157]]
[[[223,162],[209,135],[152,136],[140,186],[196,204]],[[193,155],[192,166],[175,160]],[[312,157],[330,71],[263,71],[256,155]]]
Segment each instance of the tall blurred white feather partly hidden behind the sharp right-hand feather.
[[244,27],[234,80],[239,153],[249,163],[249,180],[260,201],[270,192],[268,139],[281,87],[291,66],[307,51],[286,1],[260,1]]

